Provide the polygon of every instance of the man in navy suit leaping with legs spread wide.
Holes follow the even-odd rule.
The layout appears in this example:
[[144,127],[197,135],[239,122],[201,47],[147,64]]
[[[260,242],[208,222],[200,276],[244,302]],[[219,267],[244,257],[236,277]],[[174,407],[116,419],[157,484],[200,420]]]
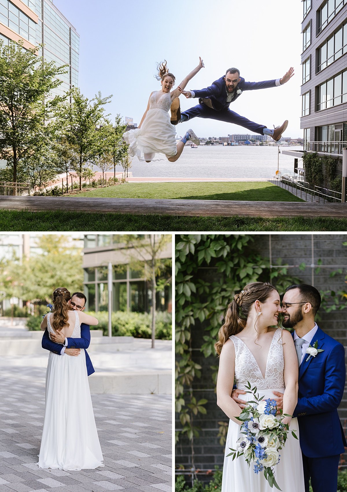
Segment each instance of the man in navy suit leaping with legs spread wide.
[[188,99],[190,97],[198,98],[199,104],[181,114],[179,99],[174,99],[171,105],[171,123],[182,123],[195,117],[210,118],[212,120],[244,126],[250,131],[260,133],[260,135],[269,135],[277,142],[282,137],[282,134],[288,125],[288,120],[285,120],[281,126],[270,129],[267,128],[266,125],[254,123],[244,116],[240,116],[234,111],[231,111],[229,105],[231,102],[236,101],[243,91],[281,86],[288,82],[293,75],[294,69],[290,67],[281,79],[266,80],[263,82],[246,82],[243,77],[240,77],[240,70],[232,67],[226,70],[225,76],[215,80],[212,85],[206,89],[184,91],[178,87],[180,92]]

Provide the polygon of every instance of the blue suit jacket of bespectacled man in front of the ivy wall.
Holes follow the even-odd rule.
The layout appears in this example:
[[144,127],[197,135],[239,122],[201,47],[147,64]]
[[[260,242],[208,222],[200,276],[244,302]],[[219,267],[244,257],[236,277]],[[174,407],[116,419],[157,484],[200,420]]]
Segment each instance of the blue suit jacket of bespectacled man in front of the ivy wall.
[[315,340],[323,352],[308,362],[309,354],[305,354],[300,364],[298,403],[293,417],[298,418],[303,454],[323,458],[344,453],[347,446],[337,411],[345,389],[345,349],[319,327],[311,346]]

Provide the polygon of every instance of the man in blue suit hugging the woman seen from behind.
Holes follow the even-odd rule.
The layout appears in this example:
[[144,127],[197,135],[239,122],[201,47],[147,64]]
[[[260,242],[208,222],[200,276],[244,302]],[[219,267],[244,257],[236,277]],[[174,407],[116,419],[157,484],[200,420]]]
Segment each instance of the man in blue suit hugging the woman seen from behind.
[[[70,307],[74,311],[83,311],[87,298],[82,292],[74,292],[71,296]],[[42,348],[54,352],[55,354],[77,356],[80,349],[84,348],[86,353],[87,374],[90,376],[95,372],[92,361],[87,353],[87,348],[91,342],[91,331],[89,325],[81,324],[81,338],[65,338],[61,333],[52,334],[52,340],[49,338],[48,330],[44,331],[42,337]]]

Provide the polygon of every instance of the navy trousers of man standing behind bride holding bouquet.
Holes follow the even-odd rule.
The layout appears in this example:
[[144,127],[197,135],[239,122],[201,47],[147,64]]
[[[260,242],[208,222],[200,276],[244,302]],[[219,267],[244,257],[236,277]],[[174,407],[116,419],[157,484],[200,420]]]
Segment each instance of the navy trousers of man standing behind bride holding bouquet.
[[308,458],[302,455],[305,492],[310,492],[310,478],[313,492],[336,492],[339,461],[340,455],[324,458]]

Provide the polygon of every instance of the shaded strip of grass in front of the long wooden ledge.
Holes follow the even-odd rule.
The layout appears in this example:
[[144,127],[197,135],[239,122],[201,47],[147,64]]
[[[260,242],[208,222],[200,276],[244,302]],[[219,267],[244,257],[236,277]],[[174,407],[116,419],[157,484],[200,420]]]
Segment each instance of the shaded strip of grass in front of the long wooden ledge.
[[176,217],[0,210],[1,231],[346,231],[347,219],[262,217]]

